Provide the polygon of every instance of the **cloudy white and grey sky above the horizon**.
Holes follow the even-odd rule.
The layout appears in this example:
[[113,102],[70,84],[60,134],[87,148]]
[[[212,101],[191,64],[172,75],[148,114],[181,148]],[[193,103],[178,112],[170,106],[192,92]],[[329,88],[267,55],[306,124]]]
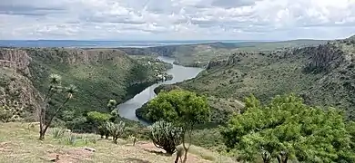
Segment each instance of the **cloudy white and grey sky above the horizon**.
[[355,0],[0,0],[0,39],[287,40],[355,34]]

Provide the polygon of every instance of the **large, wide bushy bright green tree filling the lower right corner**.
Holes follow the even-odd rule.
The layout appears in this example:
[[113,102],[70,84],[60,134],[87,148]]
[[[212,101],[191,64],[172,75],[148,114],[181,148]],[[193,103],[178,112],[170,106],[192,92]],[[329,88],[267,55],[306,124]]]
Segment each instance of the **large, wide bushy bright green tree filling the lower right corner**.
[[301,98],[277,96],[262,106],[247,98],[246,111],[228,121],[221,130],[229,149],[247,160],[260,156],[264,162],[291,158],[304,162],[354,162],[350,132],[340,110],[321,110],[305,105]]

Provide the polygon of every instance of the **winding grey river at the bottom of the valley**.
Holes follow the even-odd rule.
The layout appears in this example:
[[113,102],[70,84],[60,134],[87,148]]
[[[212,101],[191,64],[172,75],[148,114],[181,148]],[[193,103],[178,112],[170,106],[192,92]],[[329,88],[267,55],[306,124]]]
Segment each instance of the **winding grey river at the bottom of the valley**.
[[[169,58],[169,57],[159,56],[158,59],[163,62],[169,62],[169,63],[174,62],[174,59]],[[138,118],[136,117],[136,110],[138,108],[142,107],[142,105],[145,104],[147,101],[150,101],[154,97],[157,96],[157,94],[154,92],[154,89],[157,88],[157,86],[162,85],[162,84],[173,84],[176,82],[183,82],[185,80],[195,78],[198,75],[198,73],[201,71],[203,71],[203,69],[201,69],[201,68],[184,67],[181,65],[173,64],[173,68],[167,70],[167,74],[173,75],[172,80],[166,81],[166,82],[155,83],[155,84],[147,87],[144,91],[141,91],[140,93],[138,93],[132,99],[119,104],[118,105],[119,116],[124,117],[128,120],[136,120],[136,121],[140,121],[140,122],[146,124],[145,121],[138,120]]]

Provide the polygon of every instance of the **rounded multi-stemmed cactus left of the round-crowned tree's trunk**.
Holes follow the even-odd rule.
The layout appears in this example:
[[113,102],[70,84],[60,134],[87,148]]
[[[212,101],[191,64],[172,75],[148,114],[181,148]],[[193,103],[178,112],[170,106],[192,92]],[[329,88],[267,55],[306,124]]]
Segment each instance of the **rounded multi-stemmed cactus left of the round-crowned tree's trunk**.
[[176,128],[166,121],[157,121],[148,128],[150,129],[149,137],[157,148],[166,150],[169,155],[177,150],[182,139],[181,128]]

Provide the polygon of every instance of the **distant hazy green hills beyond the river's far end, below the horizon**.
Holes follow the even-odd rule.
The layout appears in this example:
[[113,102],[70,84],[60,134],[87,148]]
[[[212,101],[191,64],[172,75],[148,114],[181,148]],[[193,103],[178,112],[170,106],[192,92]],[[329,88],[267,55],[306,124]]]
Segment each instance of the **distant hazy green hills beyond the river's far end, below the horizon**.
[[285,47],[300,47],[326,43],[325,40],[291,40],[285,42],[197,43],[147,48],[119,48],[131,55],[161,55],[174,57],[177,64],[205,67],[213,59],[226,59],[238,51],[272,51]]

